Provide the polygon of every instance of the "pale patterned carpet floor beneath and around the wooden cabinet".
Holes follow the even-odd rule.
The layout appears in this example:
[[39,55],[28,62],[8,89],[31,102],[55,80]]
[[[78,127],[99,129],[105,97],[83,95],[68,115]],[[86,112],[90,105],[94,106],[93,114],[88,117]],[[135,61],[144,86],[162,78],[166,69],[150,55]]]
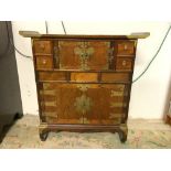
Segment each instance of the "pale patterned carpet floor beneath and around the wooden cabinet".
[[128,120],[128,140],[120,143],[118,133],[50,132],[46,141],[39,138],[39,117],[25,115],[8,131],[1,149],[169,149],[171,127],[162,120]]

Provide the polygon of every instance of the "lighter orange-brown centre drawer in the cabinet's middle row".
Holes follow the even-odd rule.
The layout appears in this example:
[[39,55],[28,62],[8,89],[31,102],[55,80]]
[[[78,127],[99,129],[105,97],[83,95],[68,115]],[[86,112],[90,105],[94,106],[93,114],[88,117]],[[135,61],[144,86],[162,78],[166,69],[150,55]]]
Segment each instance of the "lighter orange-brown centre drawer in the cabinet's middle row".
[[72,82],[97,82],[97,73],[72,73]]

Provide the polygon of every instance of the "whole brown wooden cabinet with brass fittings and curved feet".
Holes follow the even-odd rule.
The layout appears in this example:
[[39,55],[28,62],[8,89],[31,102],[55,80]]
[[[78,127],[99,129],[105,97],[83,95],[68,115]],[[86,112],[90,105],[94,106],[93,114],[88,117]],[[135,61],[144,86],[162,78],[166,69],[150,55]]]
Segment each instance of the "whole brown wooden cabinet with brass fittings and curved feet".
[[111,131],[127,139],[137,40],[132,35],[31,38],[40,107],[40,137],[49,131]]

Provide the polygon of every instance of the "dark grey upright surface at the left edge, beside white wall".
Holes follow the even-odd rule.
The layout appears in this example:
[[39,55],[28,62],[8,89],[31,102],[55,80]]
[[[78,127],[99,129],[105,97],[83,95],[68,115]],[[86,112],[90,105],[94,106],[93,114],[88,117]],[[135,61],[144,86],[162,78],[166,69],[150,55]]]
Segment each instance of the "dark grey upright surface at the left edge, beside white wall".
[[8,39],[12,39],[11,22],[0,21],[0,115],[22,114],[17,60]]

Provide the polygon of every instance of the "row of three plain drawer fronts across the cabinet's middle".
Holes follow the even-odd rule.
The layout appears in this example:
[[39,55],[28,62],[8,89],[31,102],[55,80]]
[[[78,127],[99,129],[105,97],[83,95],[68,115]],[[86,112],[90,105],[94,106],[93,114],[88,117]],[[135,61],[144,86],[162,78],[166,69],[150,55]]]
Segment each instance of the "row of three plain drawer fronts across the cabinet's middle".
[[131,74],[129,73],[84,73],[84,72],[52,72],[39,71],[39,82],[77,82],[77,83],[129,83]]

